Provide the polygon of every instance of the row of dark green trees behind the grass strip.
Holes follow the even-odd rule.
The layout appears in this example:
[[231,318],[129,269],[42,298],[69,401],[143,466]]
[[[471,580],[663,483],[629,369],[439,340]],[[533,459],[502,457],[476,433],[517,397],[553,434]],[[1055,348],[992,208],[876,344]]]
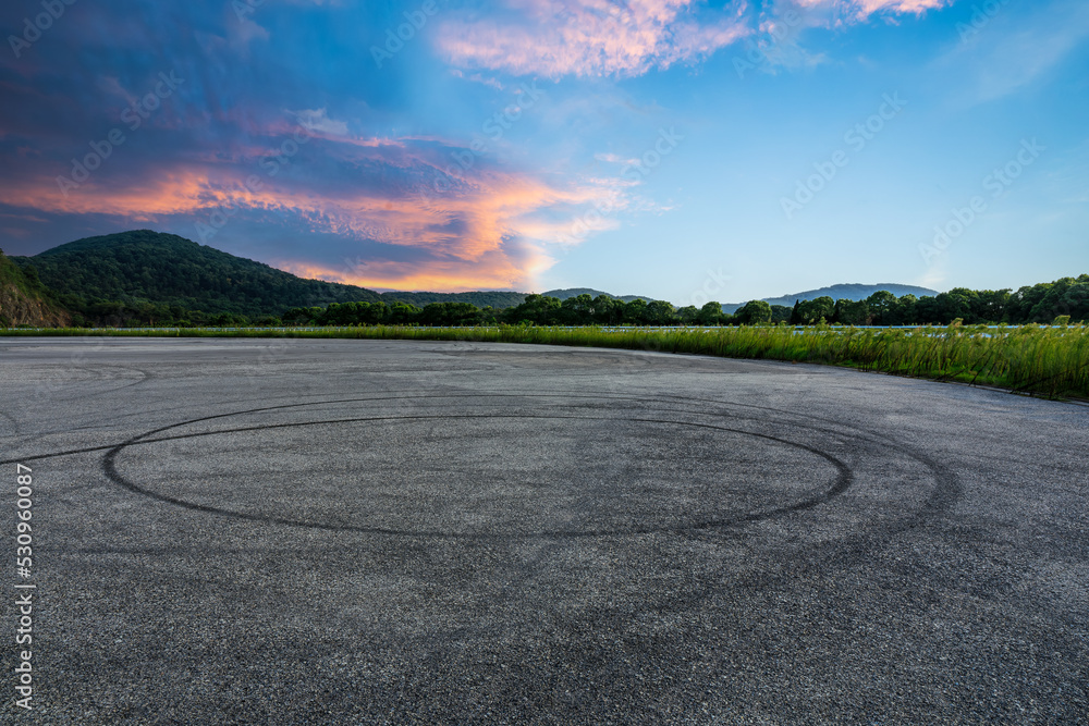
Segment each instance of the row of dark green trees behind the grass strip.
[[[30,272],[33,275],[33,271]],[[62,299],[64,296],[61,296]],[[69,300],[71,302],[71,300]],[[972,291],[964,287],[937,296],[896,297],[878,292],[864,300],[818,297],[793,308],[763,300],[746,303],[734,313],[719,303],[674,307],[664,300],[624,302],[608,295],[578,295],[560,300],[528,295],[507,308],[469,303],[358,302],[293,307],[280,316],[248,317],[234,312],[201,312],[180,305],[151,302],[90,300],[71,308],[74,324],[117,327],[235,327],[235,325],[738,325],[760,323],[843,325],[947,325],[955,320],[976,323],[1050,323],[1069,316],[1089,321],[1089,274],[1017,291]]]

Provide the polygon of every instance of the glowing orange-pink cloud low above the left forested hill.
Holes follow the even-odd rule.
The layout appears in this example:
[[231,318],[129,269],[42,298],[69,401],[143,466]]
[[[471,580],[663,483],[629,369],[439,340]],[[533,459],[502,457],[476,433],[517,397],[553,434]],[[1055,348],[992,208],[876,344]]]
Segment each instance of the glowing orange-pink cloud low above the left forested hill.
[[[269,224],[276,223],[268,221],[274,214],[294,229],[365,242],[369,250],[377,243],[378,259],[338,268],[321,260],[323,250],[315,250],[309,259],[298,255],[266,261],[331,281],[438,291],[531,285],[534,275],[552,263],[544,250],[562,231],[554,220],[570,219],[603,194],[600,181],[560,187],[531,174],[479,165],[462,179],[451,179],[441,171],[449,168],[443,158],[449,147],[436,150],[433,144],[421,147],[404,139],[386,144],[318,136],[311,140],[315,156],[293,161],[299,171],[332,157],[371,170],[368,173],[374,176],[389,174],[401,181],[388,185],[372,177],[339,183],[321,179],[320,173],[310,180],[285,173],[273,177],[257,163],[261,152],[235,149],[224,155],[228,161],[200,158],[173,168],[160,165],[146,180],[108,176],[103,171],[69,189],[66,196],[56,177],[46,175],[19,183],[5,180],[0,182],[0,193],[5,204],[37,212],[107,214],[140,224],[187,218],[195,233],[186,236],[205,244],[244,234],[246,227],[232,219]],[[259,184],[252,183],[255,177]],[[436,179],[449,182],[442,192],[436,189]],[[208,238],[203,238],[201,229]],[[381,259],[380,245],[416,251],[409,256],[412,261],[394,261],[405,255],[392,249],[391,259]]]

